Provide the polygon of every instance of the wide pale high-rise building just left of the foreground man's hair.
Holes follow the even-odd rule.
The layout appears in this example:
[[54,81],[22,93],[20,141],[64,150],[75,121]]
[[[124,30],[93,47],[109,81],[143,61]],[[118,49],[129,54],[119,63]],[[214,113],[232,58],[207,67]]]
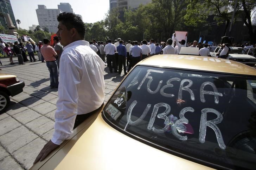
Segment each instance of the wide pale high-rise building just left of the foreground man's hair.
[[62,13],[60,9],[47,9],[45,5],[38,5],[36,12],[40,28],[46,27],[51,33],[58,31],[57,16]]

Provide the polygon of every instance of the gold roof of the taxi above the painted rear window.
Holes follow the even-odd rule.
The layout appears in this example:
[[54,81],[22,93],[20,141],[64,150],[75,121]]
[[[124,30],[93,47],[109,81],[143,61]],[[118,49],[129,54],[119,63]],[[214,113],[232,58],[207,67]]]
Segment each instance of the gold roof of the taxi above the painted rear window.
[[163,54],[142,60],[138,65],[170,67],[256,76],[256,69],[245,64],[216,57]]

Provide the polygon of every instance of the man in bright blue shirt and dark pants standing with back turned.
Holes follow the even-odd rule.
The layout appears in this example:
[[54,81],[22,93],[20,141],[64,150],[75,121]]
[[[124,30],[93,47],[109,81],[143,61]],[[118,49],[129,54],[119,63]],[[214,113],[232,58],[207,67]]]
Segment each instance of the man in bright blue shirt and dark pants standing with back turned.
[[118,58],[118,74],[121,74],[122,67],[124,75],[126,75],[126,47],[123,45],[123,41],[119,41],[119,46],[116,47],[119,58]]

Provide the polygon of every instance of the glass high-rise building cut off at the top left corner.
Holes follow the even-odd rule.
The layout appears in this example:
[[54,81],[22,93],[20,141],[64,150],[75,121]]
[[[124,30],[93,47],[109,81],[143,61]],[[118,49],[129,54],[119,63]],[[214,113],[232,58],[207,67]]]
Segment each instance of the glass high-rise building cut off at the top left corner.
[[[10,0],[0,0],[0,13],[9,14],[12,20],[12,23],[15,27],[17,27],[17,23],[12,11],[12,5]],[[6,19],[0,17],[0,25],[5,26],[7,24]]]

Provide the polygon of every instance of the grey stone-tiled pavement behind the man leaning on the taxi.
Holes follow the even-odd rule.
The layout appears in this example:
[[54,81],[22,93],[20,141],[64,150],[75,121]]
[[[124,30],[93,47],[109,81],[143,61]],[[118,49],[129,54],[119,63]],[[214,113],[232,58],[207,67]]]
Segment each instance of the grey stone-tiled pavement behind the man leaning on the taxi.
[[[17,57],[13,60],[18,63]],[[29,169],[41,148],[51,139],[58,91],[49,87],[45,63],[10,65],[9,59],[1,59],[1,62],[0,73],[17,75],[25,82],[25,87],[22,93],[11,97],[6,113],[0,115],[0,169]],[[109,73],[107,67],[105,70],[106,102],[124,75]]]

